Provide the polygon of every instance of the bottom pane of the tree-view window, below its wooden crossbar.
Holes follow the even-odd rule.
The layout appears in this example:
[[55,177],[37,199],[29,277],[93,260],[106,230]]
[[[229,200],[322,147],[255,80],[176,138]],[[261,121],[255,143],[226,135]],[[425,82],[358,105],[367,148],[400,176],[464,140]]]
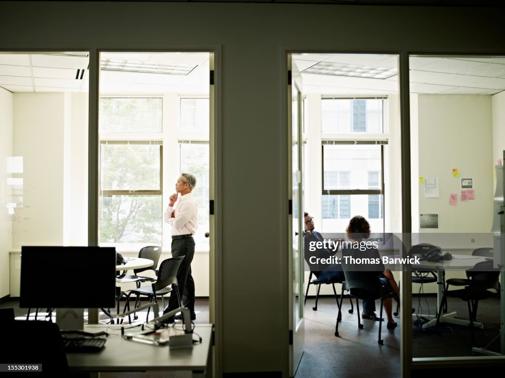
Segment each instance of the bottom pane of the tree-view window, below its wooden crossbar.
[[101,243],[162,244],[162,196],[102,196]]

